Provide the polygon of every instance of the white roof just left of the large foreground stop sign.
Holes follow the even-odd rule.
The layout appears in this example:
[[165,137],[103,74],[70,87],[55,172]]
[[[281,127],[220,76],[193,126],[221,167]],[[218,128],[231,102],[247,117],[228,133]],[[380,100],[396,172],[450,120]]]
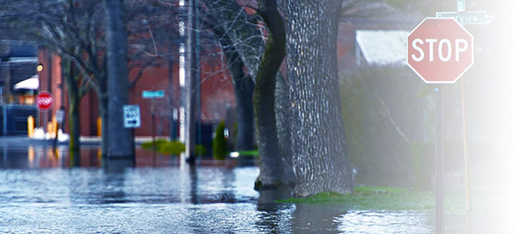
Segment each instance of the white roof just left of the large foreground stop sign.
[[369,64],[406,64],[406,40],[404,30],[356,30],[356,41]]

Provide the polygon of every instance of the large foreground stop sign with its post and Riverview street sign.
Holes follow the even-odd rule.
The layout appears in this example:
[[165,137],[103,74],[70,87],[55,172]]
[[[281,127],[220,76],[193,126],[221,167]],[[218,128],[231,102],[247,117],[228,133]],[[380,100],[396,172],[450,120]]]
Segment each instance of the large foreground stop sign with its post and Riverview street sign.
[[[478,13],[465,12],[465,0],[457,0],[457,10],[459,12],[438,12],[437,18],[426,18],[407,37],[407,65],[425,83],[437,84],[435,89],[437,95],[435,144],[436,234],[444,233],[443,88],[444,84],[453,84],[461,78],[474,62],[473,36],[461,23],[485,22],[485,12],[482,13],[483,16],[478,17],[475,17]],[[444,50],[444,48],[447,50]],[[467,174],[466,180],[468,180]],[[469,207],[469,198],[467,204]]]

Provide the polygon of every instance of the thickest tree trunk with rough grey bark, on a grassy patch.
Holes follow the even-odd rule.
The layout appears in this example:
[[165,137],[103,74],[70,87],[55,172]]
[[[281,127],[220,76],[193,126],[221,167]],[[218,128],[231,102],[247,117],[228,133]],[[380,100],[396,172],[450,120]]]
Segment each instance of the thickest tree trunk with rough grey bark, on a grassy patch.
[[294,196],[351,192],[338,86],[340,0],[286,0],[287,72],[292,113]]

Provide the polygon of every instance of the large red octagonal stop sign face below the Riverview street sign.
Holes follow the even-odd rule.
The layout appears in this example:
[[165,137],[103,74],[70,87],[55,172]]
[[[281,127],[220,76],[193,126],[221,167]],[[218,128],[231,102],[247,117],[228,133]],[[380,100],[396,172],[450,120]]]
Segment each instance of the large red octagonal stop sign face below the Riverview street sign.
[[455,83],[473,55],[473,36],[453,18],[426,18],[407,37],[407,64],[426,83]]

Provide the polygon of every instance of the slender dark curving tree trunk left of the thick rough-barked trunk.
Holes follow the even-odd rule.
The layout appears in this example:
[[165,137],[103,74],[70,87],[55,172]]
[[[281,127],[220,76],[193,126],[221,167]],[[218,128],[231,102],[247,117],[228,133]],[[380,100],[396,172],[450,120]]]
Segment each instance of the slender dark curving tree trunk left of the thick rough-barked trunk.
[[263,58],[255,78],[255,121],[258,150],[261,158],[255,189],[278,189],[289,185],[284,181],[284,164],[277,137],[275,116],[276,77],[285,56],[284,22],[277,11],[277,0],[257,2],[269,34]]

